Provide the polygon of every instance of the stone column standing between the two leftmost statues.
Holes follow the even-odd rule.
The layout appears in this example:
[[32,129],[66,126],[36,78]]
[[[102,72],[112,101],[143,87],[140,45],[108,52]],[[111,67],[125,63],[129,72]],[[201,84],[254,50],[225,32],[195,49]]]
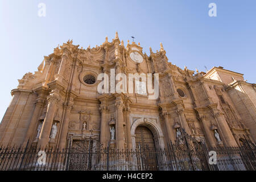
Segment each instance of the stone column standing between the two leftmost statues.
[[46,118],[44,118],[42,130],[38,140],[38,147],[46,147],[49,142],[49,135],[52,129],[53,118],[56,111],[56,103],[59,101],[59,95],[57,93],[50,93],[47,98],[48,106],[46,112]]

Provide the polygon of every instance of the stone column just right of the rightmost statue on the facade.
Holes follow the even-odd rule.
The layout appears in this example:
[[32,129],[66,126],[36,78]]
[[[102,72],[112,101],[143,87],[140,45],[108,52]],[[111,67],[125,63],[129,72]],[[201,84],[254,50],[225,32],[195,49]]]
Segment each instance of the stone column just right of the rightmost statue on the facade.
[[234,139],[234,136],[229,129],[228,123],[226,123],[224,114],[219,113],[218,111],[213,111],[213,116],[218,123],[218,130],[222,134],[221,140],[224,140],[227,146],[237,147],[236,140]]

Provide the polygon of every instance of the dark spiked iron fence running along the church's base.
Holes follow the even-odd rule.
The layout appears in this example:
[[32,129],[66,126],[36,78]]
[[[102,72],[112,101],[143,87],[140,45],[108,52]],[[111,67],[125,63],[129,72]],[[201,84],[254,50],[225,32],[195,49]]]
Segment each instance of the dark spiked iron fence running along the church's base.
[[[209,164],[209,152],[215,151],[217,164]],[[26,171],[144,171],[144,170],[194,170],[240,171],[255,170],[255,146],[206,147],[180,150],[170,143],[167,148],[136,150],[112,148],[34,148],[0,147],[0,170]]]

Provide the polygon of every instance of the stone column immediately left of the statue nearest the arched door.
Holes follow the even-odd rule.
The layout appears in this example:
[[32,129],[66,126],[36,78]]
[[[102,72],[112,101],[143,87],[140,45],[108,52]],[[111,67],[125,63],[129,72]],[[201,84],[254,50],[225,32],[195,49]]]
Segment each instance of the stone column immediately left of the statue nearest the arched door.
[[108,146],[108,130],[109,125],[107,121],[107,113],[108,113],[108,106],[101,105],[101,133],[100,133],[100,141],[102,146],[105,148]]

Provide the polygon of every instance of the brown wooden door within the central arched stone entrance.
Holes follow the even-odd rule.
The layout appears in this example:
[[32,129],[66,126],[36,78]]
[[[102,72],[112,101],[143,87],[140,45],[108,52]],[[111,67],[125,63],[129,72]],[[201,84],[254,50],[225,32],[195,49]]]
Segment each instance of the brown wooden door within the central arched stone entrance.
[[158,170],[155,140],[146,126],[138,126],[135,130],[136,148],[141,152],[140,166],[142,170]]

